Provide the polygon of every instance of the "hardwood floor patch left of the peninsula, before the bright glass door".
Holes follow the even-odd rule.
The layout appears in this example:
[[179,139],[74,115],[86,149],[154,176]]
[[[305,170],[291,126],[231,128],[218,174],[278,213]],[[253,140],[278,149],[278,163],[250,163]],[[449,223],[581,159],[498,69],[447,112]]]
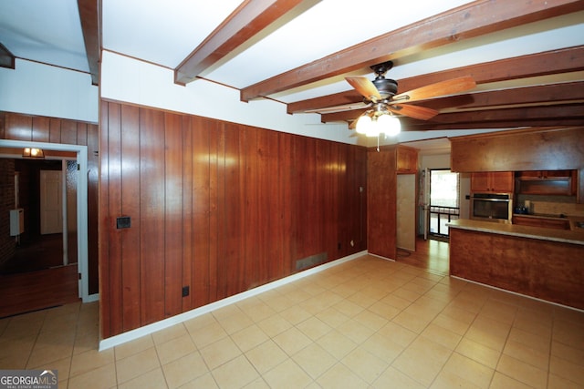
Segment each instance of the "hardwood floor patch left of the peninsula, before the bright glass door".
[[398,262],[427,269],[436,274],[449,274],[449,245],[446,241],[424,241],[416,238],[416,251],[398,250]]

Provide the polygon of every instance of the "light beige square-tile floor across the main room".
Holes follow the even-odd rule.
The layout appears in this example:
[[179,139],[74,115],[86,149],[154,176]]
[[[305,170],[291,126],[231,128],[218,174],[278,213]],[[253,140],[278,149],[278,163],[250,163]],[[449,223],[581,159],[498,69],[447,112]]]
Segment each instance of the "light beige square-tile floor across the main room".
[[98,304],[0,321],[60,388],[582,388],[584,313],[365,256],[99,353]]

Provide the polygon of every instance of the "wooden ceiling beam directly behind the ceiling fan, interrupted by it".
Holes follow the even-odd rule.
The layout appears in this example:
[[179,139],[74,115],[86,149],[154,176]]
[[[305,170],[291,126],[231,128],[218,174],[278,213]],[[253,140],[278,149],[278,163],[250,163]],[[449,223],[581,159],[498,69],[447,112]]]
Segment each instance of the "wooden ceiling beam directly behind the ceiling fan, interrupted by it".
[[[546,64],[546,66],[544,67],[542,64]],[[398,83],[400,91],[407,91],[416,87],[423,87],[435,82],[463,76],[473,77],[476,84],[487,84],[516,78],[546,76],[581,70],[584,70],[584,46],[574,46],[403,78]],[[359,93],[349,90],[333,95],[289,103],[287,105],[287,111],[288,113],[300,113],[318,108],[357,103],[362,101],[362,99],[363,97]]]

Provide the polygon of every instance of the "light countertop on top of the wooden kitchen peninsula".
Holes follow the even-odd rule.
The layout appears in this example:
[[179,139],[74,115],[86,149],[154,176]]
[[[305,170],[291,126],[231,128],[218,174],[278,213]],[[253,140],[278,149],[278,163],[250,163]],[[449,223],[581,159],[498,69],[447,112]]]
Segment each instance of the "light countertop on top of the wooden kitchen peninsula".
[[[529,216],[529,215],[521,215]],[[541,217],[533,215],[533,217]],[[496,233],[500,235],[531,238],[541,241],[558,241],[563,243],[579,244],[584,246],[584,228],[577,226],[577,222],[584,218],[568,218],[570,230],[546,229],[515,224],[496,223],[491,221],[459,219],[448,224],[451,229],[474,230],[479,232]]]

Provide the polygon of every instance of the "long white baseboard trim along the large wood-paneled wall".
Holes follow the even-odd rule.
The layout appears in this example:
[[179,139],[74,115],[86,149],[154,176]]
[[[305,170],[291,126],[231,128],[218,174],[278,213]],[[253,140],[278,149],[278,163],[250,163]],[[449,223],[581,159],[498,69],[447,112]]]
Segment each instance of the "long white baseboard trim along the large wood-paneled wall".
[[360,251],[347,257],[340,258],[339,260],[330,261],[323,263],[322,265],[318,265],[314,268],[307,269],[306,271],[297,272],[280,280],[276,280],[275,282],[266,283],[265,285],[258,286],[249,291],[237,293],[218,302],[212,302],[210,304],[203,305],[202,307],[195,308],[191,311],[179,313],[175,316],[169,317],[168,319],[163,319],[160,322],[152,322],[151,324],[144,325],[143,327],[137,328],[135,330],[130,330],[127,333],[120,333],[119,335],[111,336],[110,338],[99,341],[99,351],[108,350],[111,347],[115,347],[122,343],[127,343],[141,338],[142,336],[161,331],[165,328],[171,327],[174,324],[185,322],[208,312],[213,312],[219,308],[223,308],[224,306],[233,304],[235,302],[241,302],[249,297],[255,296],[256,294],[270,291],[279,286],[286,285],[289,282],[295,282],[309,275],[316,274],[319,271],[324,271],[334,266],[338,266],[341,263],[356,260],[357,258],[367,254],[367,251]]

